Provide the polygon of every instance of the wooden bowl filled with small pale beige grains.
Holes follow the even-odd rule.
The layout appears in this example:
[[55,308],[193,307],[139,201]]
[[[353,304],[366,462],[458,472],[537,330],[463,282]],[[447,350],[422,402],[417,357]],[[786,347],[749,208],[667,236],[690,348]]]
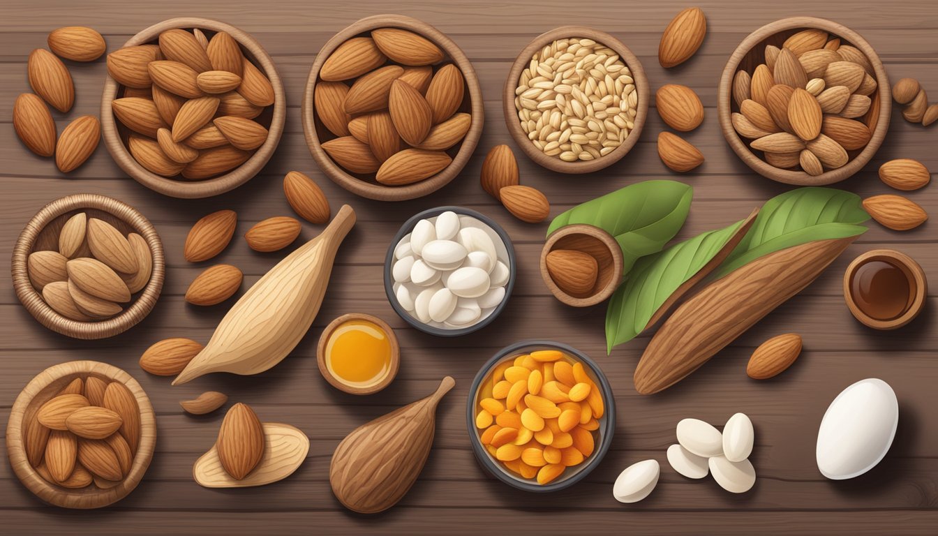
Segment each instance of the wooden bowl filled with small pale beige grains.
[[505,83],[505,123],[524,154],[560,173],[626,156],[648,114],[642,63],[613,36],[561,26],[518,55]]

